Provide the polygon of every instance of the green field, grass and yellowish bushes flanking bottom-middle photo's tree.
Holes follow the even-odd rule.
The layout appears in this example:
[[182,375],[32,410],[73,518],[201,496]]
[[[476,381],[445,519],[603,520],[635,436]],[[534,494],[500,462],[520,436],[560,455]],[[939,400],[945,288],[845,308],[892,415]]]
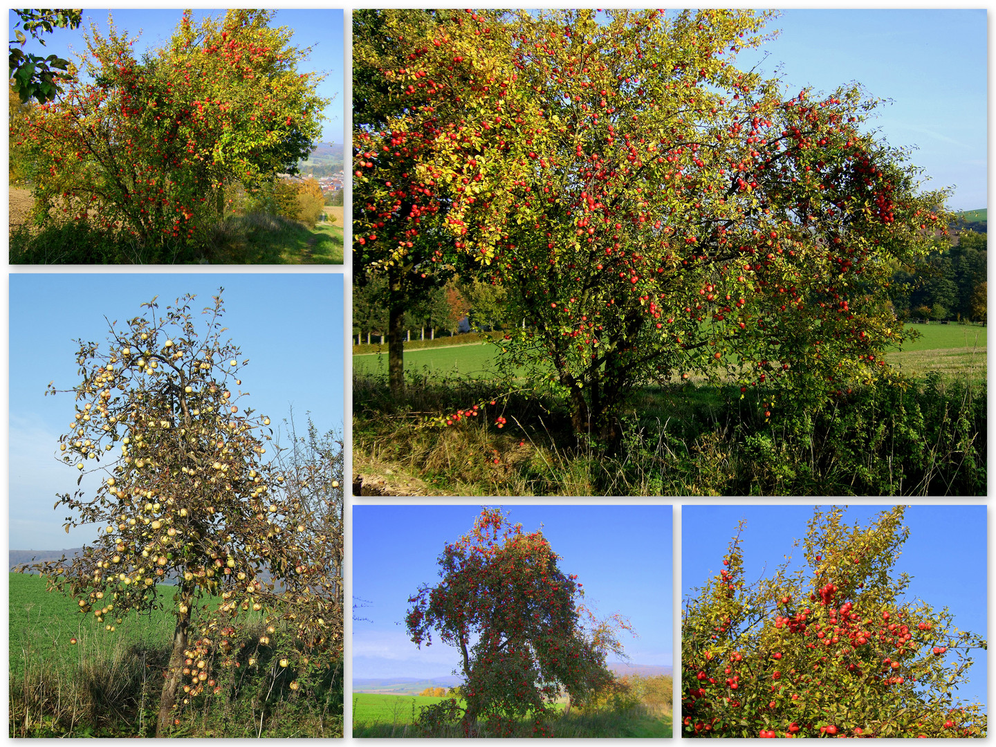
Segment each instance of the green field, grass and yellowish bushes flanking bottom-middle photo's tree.
[[[657,737],[671,736],[671,678],[640,679],[632,696],[602,704],[590,711],[572,709],[564,712],[564,703],[556,703],[547,717],[549,736],[589,737]],[[382,695],[354,693],[354,737],[462,737],[459,724],[449,724],[426,732],[418,724],[419,709],[447,700],[426,695]],[[462,706],[463,701],[457,699]],[[532,737],[535,722],[523,719],[514,727],[513,737]]]

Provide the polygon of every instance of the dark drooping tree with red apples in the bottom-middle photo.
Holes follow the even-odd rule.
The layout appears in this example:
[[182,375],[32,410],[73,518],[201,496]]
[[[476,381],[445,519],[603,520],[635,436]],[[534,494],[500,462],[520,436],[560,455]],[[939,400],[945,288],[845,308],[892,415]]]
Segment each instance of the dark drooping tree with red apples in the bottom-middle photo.
[[558,560],[542,532],[523,532],[500,510],[483,509],[473,530],[439,556],[441,582],[408,600],[413,642],[429,645],[436,631],[459,649],[467,734],[478,719],[508,733],[530,713],[539,727],[562,690],[583,705],[613,682],[606,656],[622,652],[617,630],[628,623],[595,621],[580,604],[577,576]]

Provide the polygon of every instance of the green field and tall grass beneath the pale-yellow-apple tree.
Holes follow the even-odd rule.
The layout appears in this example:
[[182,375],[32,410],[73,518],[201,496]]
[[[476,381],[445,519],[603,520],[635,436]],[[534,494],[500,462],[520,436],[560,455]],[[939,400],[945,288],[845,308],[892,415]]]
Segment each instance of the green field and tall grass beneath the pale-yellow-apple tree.
[[[173,588],[157,589],[168,604]],[[154,735],[171,615],[132,613],[107,630],[74,600],[47,593],[43,579],[12,573],[9,621],[10,737]],[[249,626],[241,666],[217,674],[220,694],[179,711],[170,736],[342,736],[341,665],[310,675],[294,692],[288,682],[298,674],[255,642],[264,627],[262,620]],[[278,627],[271,637],[289,634]]]

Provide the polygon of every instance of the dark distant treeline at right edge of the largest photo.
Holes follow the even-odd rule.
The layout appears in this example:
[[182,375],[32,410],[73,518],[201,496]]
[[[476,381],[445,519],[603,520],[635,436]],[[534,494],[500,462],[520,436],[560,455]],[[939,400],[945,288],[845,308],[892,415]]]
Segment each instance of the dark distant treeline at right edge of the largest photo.
[[986,236],[961,231],[957,244],[931,253],[915,272],[898,270],[889,289],[896,317],[985,322]]

